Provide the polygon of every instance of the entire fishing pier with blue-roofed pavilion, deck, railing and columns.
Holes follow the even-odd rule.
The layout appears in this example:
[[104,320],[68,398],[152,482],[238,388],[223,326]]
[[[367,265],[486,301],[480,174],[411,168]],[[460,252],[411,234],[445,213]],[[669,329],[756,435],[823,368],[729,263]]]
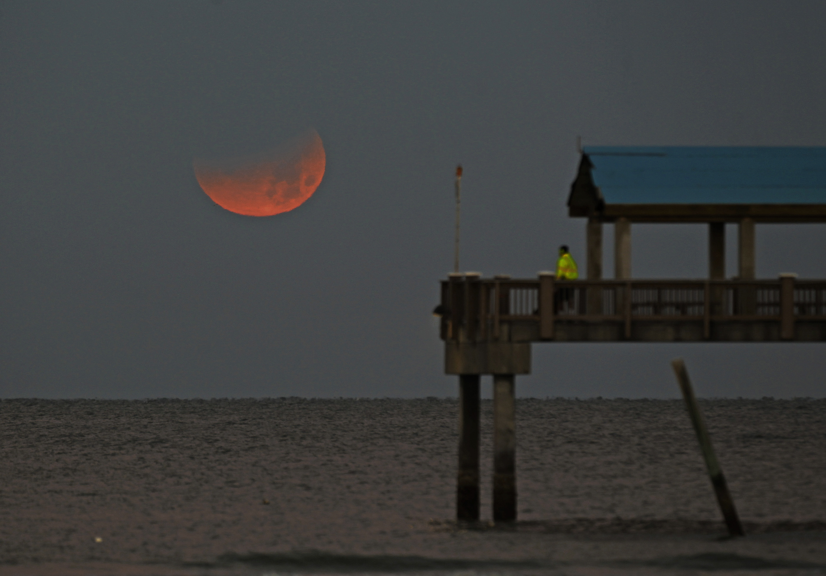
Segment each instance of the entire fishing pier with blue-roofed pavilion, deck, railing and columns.
[[[826,279],[755,274],[757,224],[826,222],[826,148],[587,147],[567,205],[586,219],[585,279],[457,272],[441,281],[444,371],[459,376],[459,520],[479,518],[482,375],[493,376],[493,519],[516,519],[515,376],[530,373],[533,342],[826,341]],[[632,225],[645,223],[705,224],[708,277],[633,278]],[[615,234],[611,279],[602,277],[604,224]],[[738,238],[729,279],[726,224]]]

